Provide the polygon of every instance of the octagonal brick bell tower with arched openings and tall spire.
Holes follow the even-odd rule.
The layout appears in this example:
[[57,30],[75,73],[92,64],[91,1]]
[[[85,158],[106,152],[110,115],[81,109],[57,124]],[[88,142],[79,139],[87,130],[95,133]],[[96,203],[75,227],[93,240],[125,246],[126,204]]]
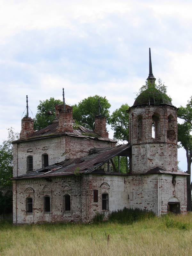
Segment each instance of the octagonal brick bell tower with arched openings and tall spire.
[[[148,83],[155,83],[149,48]],[[146,90],[147,91],[147,90]],[[132,174],[160,168],[177,172],[177,108],[161,98],[142,92],[129,108],[129,142],[132,145]],[[157,100],[158,98],[158,100]]]

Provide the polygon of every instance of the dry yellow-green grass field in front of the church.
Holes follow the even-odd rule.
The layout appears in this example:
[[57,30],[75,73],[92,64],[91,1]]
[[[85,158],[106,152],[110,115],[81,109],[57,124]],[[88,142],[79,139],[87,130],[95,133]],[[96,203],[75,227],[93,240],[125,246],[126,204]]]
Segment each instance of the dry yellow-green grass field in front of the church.
[[0,222],[1,256],[189,256],[191,247],[190,213],[154,217],[132,224],[12,226]]

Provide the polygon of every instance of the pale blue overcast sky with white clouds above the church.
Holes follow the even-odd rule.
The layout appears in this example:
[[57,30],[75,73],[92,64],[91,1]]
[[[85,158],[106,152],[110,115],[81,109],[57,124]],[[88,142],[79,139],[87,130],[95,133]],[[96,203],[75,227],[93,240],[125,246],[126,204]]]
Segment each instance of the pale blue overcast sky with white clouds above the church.
[[[1,0],[0,143],[7,128],[20,132],[27,94],[33,116],[39,100],[62,100],[62,87],[69,105],[98,94],[111,113],[132,106],[148,77],[149,47],[154,76],[174,106],[185,106],[192,95],[191,12],[191,1],[176,0]],[[178,158],[186,171],[185,151]]]

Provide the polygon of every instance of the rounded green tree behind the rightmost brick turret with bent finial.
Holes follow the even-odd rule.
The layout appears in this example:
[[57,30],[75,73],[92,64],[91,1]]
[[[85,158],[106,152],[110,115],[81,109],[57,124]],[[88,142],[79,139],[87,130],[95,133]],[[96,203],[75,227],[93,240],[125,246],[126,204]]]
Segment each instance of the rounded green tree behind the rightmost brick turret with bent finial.
[[94,120],[95,116],[98,116],[98,100],[100,100],[100,109],[101,116],[106,118],[106,122],[110,123],[109,108],[111,107],[110,103],[106,97],[101,97],[99,95],[90,96],[78,104],[73,105],[73,118],[80,125],[83,125],[85,128],[94,130]]

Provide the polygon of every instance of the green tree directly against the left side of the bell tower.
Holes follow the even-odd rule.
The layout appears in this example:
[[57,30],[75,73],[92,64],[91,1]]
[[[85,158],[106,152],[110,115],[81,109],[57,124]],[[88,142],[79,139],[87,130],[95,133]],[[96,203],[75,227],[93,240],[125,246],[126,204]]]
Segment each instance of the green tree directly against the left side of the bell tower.
[[128,109],[129,106],[125,103],[111,115],[111,127],[115,131],[114,140],[129,140],[129,114],[126,112]]

